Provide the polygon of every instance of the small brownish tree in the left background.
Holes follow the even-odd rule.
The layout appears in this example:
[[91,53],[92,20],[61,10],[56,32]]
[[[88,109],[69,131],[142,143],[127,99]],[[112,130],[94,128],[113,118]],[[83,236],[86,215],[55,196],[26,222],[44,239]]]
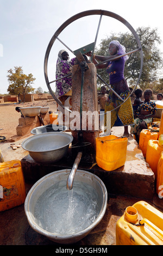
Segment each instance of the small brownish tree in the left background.
[[34,92],[34,88],[31,84],[33,84],[36,78],[34,78],[32,74],[29,74],[28,76],[23,74],[22,66],[15,66],[14,70],[10,69],[8,70],[8,73],[9,75],[7,77],[10,84],[8,92],[11,95],[18,95],[19,93],[23,94],[25,102],[25,95]]

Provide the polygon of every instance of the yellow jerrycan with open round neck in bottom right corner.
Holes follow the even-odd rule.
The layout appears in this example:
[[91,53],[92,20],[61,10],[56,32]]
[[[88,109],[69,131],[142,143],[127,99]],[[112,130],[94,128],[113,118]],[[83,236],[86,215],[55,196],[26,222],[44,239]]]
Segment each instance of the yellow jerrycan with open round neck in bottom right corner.
[[163,214],[145,201],[128,206],[116,223],[116,245],[163,245]]

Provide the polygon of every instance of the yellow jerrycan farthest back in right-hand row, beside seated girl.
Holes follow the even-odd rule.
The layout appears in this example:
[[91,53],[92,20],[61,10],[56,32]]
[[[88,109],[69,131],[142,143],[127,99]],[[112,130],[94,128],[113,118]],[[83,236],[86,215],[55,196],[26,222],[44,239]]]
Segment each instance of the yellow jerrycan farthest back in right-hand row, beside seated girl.
[[140,132],[139,147],[140,147],[144,157],[146,157],[148,141],[150,139],[157,140],[158,136],[159,136],[158,132],[150,132],[149,130],[142,130]]

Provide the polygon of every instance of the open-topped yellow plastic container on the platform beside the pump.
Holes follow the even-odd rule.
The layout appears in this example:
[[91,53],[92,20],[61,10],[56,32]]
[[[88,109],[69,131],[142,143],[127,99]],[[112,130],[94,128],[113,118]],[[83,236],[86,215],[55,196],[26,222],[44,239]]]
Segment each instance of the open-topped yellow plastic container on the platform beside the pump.
[[124,165],[127,138],[109,135],[96,138],[96,162],[104,170],[115,170]]

